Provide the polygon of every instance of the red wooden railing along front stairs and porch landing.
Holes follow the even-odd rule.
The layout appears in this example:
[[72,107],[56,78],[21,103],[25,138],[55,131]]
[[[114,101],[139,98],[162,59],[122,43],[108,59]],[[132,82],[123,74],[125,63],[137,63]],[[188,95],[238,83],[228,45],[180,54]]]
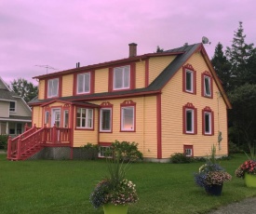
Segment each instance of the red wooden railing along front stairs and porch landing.
[[7,158],[20,159],[22,154],[35,148],[38,145],[46,145],[48,143],[70,143],[71,129],[64,127],[32,127],[20,136],[8,139]]

